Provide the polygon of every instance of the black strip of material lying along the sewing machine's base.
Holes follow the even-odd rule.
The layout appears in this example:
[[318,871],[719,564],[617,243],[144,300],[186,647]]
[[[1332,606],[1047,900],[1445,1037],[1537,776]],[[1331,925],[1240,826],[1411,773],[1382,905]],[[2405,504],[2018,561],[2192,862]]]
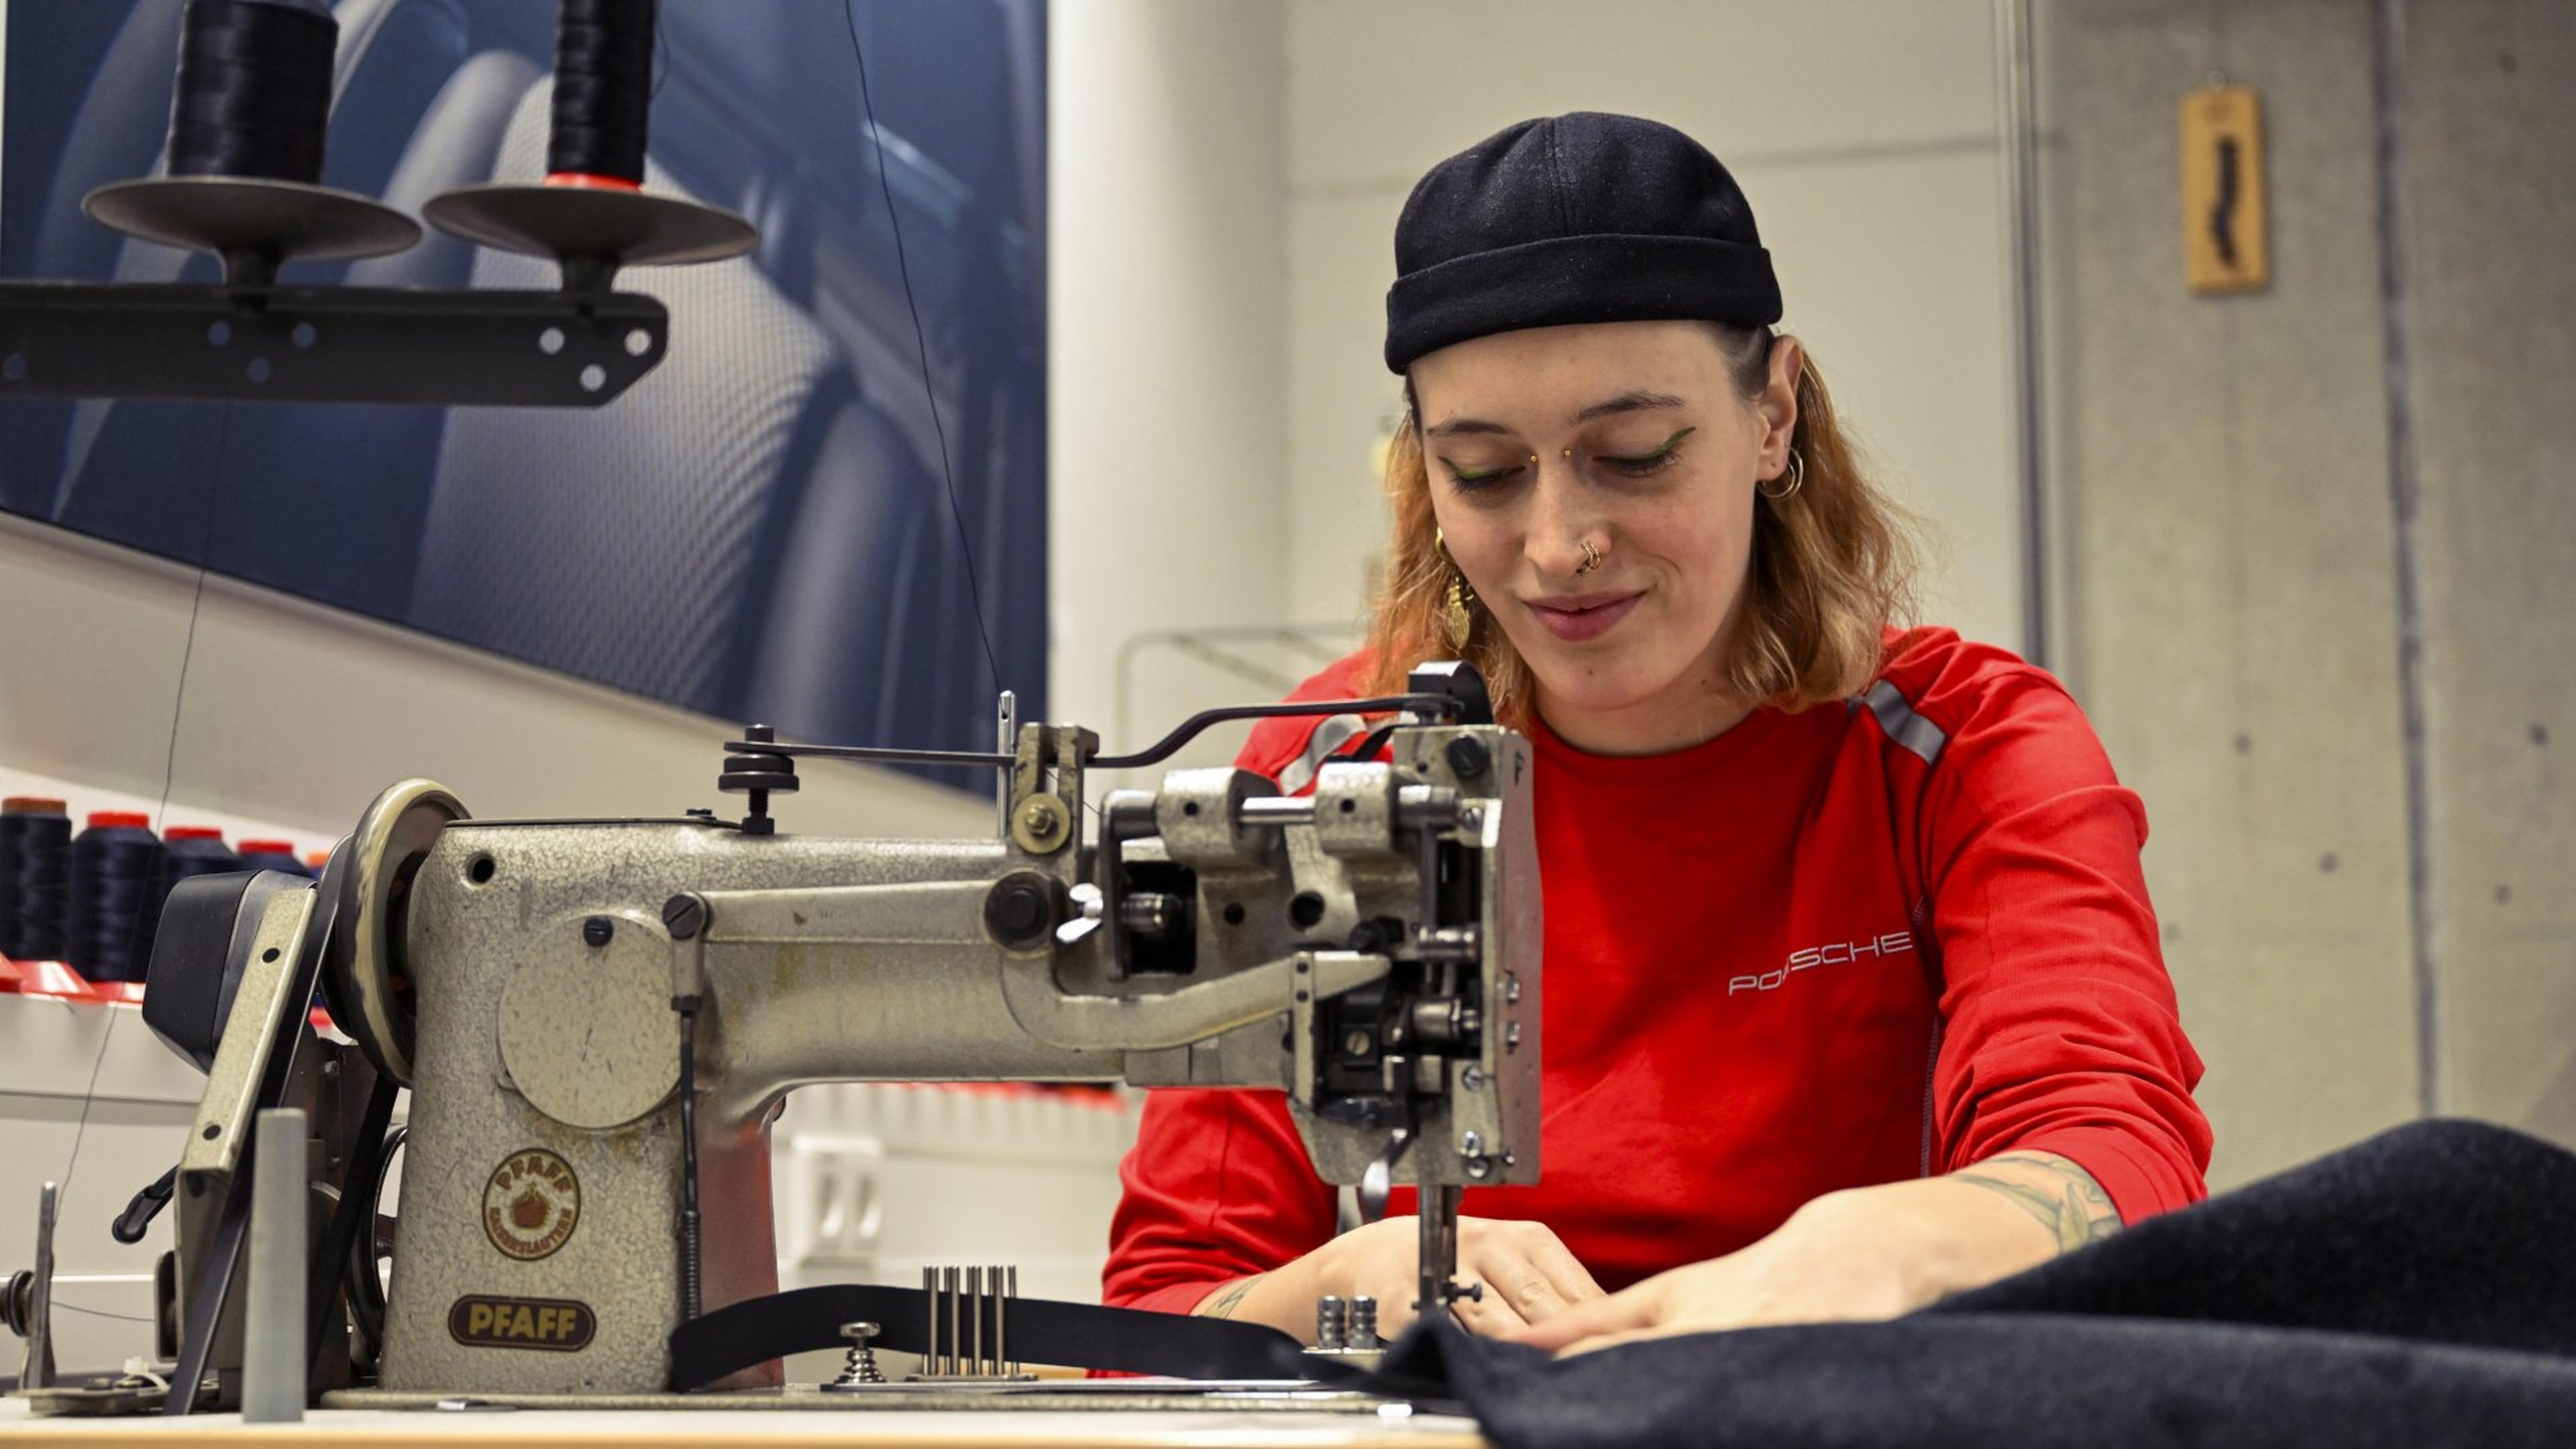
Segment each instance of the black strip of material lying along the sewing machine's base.
[[[726,1374],[804,1354],[845,1348],[842,1323],[876,1323],[876,1348],[930,1354],[933,1297],[922,1289],[829,1284],[755,1297],[683,1323],[670,1336],[670,1387],[696,1390]],[[974,1305],[961,1305],[974,1312]],[[1010,1330],[1010,1356],[1023,1364],[1115,1369],[1177,1379],[1360,1379],[1358,1369],[1314,1359],[1296,1338],[1260,1323],[1185,1318],[1090,1302],[1005,1299],[994,1323],[984,1299],[984,1343]]]

